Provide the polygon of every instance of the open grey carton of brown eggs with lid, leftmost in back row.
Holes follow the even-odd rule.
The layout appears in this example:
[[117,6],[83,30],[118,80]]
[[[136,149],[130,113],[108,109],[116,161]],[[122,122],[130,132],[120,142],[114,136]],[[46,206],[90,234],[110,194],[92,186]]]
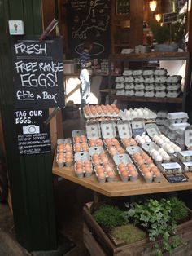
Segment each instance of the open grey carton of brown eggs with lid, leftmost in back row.
[[88,151],[87,137],[84,130],[72,130],[74,152]]

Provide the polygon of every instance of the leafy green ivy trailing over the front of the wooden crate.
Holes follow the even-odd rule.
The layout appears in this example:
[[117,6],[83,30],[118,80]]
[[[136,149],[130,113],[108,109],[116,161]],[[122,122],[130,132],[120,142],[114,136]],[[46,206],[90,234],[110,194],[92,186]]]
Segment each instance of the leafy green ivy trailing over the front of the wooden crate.
[[150,241],[155,241],[156,255],[162,255],[164,250],[171,253],[172,249],[181,245],[181,239],[176,235],[177,220],[185,214],[181,204],[179,214],[175,214],[176,204],[176,199],[150,199],[144,203],[134,203],[124,213],[126,220],[146,229]]

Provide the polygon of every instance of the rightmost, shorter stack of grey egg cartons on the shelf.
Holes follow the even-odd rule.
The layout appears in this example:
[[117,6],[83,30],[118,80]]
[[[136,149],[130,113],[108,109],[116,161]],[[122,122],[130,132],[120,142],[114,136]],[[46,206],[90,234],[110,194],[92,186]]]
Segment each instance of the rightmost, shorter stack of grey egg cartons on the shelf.
[[181,76],[168,76],[167,83],[167,97],[177,98],[181,93]]

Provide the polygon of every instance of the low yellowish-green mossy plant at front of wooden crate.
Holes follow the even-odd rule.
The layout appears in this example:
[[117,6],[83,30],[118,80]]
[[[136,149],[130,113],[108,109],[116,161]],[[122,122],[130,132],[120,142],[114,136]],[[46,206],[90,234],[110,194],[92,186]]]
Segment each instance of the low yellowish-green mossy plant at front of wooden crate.
[[115,227],[111,231],[111,237],[116,241],[123,241],[124,244],[132,244],[146,238],[146,233],[132,224]]

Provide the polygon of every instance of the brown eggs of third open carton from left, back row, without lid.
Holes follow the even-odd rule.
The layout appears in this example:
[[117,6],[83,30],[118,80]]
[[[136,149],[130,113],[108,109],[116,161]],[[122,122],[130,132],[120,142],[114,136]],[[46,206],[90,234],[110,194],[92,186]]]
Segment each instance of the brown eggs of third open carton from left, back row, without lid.
[[125,152],[124,148],[120,146],[120,142],[116,138],[104,139],[104,144],[112,157],[116,154],[124,154]]

